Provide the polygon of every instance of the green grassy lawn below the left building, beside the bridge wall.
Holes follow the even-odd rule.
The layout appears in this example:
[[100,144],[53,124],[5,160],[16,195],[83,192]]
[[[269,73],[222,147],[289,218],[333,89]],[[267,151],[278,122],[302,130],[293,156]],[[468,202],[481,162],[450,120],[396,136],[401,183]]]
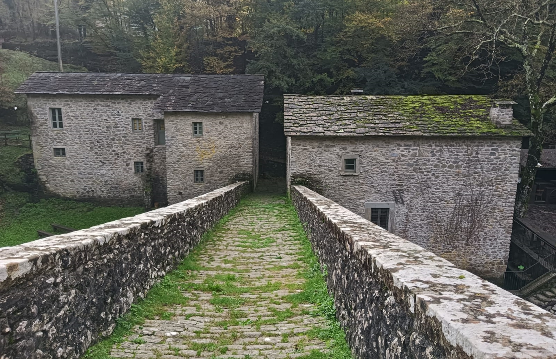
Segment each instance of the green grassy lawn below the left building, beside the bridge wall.
[[81,230],[145,212],[142,207],[101,207],[95,203],[58,198],[25,203],[18,207],[28,200],[26,197],[21,192],[7,192],[0,197],[0,206],[3,208],[0,247],[37,240],[37,230],[53,233],[50,223]]

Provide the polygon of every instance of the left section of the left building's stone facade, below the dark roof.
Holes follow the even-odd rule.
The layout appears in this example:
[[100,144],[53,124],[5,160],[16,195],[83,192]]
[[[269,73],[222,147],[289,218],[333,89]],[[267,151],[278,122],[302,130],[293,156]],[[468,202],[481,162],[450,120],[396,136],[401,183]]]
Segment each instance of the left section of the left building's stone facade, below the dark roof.
[[[147,173],[134,173],[133,162],[147,167],[155,141],[156,98],[29,94],[35,167],[46,192],[142,205],[149,179]],[[63,129],[52,128],[51,107],[62,109]],[[142,118],[142,131],[132,130],[132,118]],[[66,157],[54,157],[54,147],[65,148]]]

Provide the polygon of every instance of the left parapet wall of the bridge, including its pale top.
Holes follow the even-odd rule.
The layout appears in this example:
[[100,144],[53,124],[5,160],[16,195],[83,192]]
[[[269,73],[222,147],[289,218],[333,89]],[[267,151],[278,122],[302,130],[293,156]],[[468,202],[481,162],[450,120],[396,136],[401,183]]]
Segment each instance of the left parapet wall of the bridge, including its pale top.
[[0,248],[2,359],[79,357],[249,189],[239,182],[135,217]]

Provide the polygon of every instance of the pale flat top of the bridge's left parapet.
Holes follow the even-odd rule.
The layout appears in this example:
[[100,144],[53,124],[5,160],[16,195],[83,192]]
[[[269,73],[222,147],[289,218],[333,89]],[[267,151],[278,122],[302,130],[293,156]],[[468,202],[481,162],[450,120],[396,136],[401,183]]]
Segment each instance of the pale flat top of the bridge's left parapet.
[[222,194],[234,190],[246,183],[236,182],[233,185],[214,190],[175,205],[158,208],[133,217],[103,223],[85,230],[62,235],[50,236],[40,240],[23,243],[13,247],[0,248],[0,285],[9,280],[27,275],[34,267],[41,264],[42,258],[61,254],[65,251],[82,251],[86,248],[102,246],[111,238],[127,235],[134,228],[142,226],[160,227],[170,221],[176,214],[184,213],[191,208],[202,206]]

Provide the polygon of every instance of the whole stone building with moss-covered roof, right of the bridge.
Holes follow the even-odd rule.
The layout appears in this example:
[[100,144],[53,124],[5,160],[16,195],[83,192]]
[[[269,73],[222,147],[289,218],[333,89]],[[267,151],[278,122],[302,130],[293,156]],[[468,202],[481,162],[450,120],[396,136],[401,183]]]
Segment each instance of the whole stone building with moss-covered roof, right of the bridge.
[[288,95],[286,181],[497,278],[530,134],[512,114],[486,96]]

